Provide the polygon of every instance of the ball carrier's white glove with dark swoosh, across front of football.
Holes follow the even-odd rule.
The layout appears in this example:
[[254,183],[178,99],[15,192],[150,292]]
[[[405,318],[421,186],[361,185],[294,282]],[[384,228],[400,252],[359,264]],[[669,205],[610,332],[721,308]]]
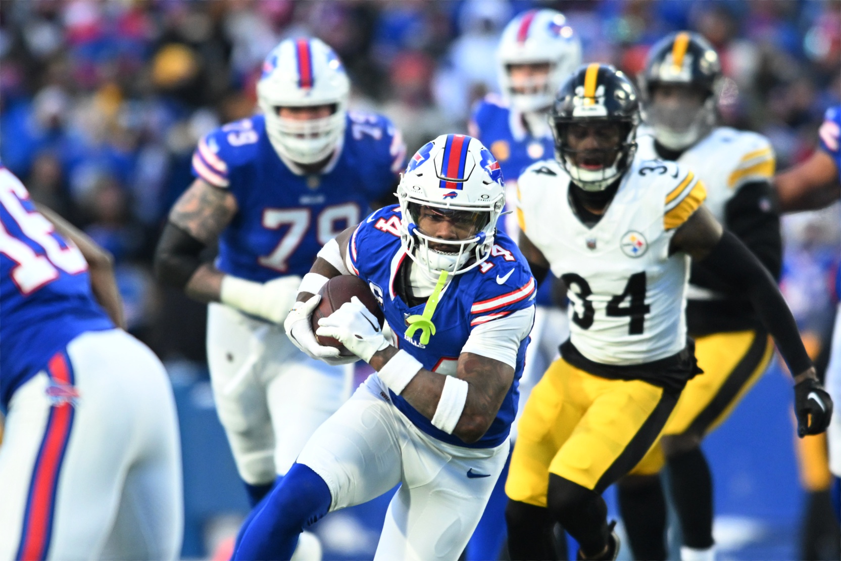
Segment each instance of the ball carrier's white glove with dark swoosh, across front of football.
[[341,304],[341,308],[331,315],[318,320],[320,327],[315,334],[322,337],[335,337],[348,351],[362,358],[366,363],[377,351],[389,347],[383,330],[376,317],[365,304],[354,296],[350,302]]

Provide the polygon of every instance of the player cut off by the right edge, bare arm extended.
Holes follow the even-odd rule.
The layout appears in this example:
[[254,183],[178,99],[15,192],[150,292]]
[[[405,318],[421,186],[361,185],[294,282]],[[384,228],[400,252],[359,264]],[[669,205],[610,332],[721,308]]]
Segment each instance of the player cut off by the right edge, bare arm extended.
[[[818,131],[819,145],[812,156],[775,177],[774,183],[784,212],[821,209],[841,199],[841,105],[827,109]],[[836,275],[836,292],[841,299],[841,265]],[[832,354],[826,373],[826,387],[833,400],[841,400],[841,304],[835,315]],[[841,477],[841,414],[837,411],[827,430],[829,468]],[[838,479],[836,479],[836,489]]]

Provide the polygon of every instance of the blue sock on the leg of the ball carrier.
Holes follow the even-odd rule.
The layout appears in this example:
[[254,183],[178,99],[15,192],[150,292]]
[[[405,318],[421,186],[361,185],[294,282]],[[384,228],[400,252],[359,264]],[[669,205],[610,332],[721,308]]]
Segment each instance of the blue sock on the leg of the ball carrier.
[[300,533],[327,514],[331,500],[324,479],[294,463],[242,527],[234,559],[291,558]]

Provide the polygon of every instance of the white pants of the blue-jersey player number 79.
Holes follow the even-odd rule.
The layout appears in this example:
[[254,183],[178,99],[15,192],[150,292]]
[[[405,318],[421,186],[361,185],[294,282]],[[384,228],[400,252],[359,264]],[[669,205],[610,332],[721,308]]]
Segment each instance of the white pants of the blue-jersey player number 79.
[[351,393],[353,365],[307,357],[283,325],[209,304],[210,382],[240,477],[252,485],[283,475]]

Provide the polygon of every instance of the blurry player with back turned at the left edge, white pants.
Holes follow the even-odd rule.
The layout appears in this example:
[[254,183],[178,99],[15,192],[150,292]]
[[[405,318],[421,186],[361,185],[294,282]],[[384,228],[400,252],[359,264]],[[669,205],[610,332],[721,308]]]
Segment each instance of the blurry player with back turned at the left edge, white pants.
[[0,222],[0,559],[177,558],[175,401],[110,256],[2,166]]

